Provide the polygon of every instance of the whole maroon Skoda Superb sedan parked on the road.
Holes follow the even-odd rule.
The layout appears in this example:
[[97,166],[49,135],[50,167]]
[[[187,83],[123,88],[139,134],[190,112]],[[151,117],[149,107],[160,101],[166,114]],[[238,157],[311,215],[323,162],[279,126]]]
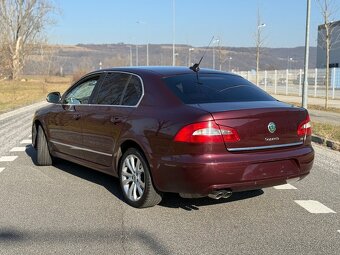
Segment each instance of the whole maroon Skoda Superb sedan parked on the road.
[[99,70],[47,101],[33,119],[37,163],[62,158],[117,176],[134,207],[164,192],[226,198],[302,179],[313,165],[307,110],[235,74]]

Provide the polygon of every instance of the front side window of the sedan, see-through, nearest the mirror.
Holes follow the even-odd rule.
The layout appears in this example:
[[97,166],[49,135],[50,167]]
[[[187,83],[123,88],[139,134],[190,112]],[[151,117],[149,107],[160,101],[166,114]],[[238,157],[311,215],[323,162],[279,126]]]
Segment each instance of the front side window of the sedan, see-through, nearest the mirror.
[[65,104],[88,104],[99,77],[84,81],[65,97]]

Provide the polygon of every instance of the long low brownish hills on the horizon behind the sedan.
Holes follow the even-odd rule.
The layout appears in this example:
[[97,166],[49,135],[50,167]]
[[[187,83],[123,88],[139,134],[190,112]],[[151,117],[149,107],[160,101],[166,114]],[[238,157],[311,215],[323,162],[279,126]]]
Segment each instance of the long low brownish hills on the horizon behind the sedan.
[[[46,45],[29,56],[24,74],[73,74],[100,67],[146,65],[146,45],[78,44]],[[189,50],[194,49],[194,50]],[[176,45],[176,65],[188,66],[197,62],[206,52],[201,66],[228,71],[253,70],[256,67],[254,47],[205,47]],[[138,53],[137,53],[138,52]],[[130,55],[131,54],[131,55]],[[137,57],[138,56],[138,57]],[[172,44],[149,44],[149,65],[172,65]],[[261,48],[260,69],[300,69],[304,65],[304,47]],[[310,48],[310,68],[316,65],[316,47]]]

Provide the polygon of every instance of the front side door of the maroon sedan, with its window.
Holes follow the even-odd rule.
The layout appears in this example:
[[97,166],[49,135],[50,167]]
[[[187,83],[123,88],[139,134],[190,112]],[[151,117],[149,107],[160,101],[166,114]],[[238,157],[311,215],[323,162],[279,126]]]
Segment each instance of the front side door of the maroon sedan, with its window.
[[84,158],[82,115],[99,80],[100,75],[97,74],[77,82],[63,95],[58,111],[51,113],[51,143],[58,152]]

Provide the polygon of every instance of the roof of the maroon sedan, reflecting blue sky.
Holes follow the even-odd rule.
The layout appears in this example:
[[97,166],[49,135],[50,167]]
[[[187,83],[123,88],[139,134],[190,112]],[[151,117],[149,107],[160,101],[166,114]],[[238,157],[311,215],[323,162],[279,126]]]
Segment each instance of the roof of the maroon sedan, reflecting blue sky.
[[[128,67],[113,67],[113,68],[106,68],[97,70],[91,73],[98,73],[98,72],[131,72],[138,75],[141,74],[154,74],[160,77],[169,77],[169,76],[175,76],[175,75],[182,75],[182,74],[192,74],[194,71],[192,71],[189,67],[185,66],[128,66]],[[199,71],[201,74],[230,74],[230,75],[237,75],[234,73],[227,73],[212,69],[205,69],[202,68]],[[238,76],[238,75],[237,75]]]

